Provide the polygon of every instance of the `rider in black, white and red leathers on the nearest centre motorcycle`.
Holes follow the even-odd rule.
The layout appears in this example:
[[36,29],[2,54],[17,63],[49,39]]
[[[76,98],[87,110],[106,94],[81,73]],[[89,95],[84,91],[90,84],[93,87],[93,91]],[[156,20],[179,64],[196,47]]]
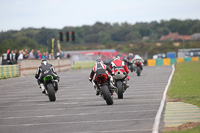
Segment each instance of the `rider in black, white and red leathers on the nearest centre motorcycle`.
[[[109,73],[108,73],[109,72]],[[97,87],[97,82],[95,80],[96,76],[100,75],[100,74],[106,74],[108,76],[108,86],[111,88],[115,88],[115,86],[113,85],[113,78],[112,78],[112,74],[114,74],[112,72],[112,70],[103,63],[103,61],[101,59],[97,59],[95,66],[93,67],[90,75],[89,75],[89,81],[95,84],[93,84],[94,89],[96,90],[96,95],[99,95],[99,88]],[[111,75],[110,75],[111,74]],[[114,91],[112,92],[113,95]]]

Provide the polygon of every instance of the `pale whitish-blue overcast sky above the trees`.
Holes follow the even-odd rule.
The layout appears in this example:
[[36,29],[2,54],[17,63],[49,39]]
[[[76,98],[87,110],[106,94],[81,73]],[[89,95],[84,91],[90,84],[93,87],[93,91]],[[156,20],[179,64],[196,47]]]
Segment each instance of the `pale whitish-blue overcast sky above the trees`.
[[0,0],[0,31],[200,19],[200,0]]

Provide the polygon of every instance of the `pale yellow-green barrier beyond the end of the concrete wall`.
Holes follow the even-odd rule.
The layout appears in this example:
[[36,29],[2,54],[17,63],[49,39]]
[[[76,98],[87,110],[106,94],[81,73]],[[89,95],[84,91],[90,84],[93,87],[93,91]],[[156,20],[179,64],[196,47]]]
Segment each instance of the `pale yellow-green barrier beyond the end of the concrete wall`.
[[72,69],[86,69],[93,68],[95,65],[95,61],[75,61],[72,65]]

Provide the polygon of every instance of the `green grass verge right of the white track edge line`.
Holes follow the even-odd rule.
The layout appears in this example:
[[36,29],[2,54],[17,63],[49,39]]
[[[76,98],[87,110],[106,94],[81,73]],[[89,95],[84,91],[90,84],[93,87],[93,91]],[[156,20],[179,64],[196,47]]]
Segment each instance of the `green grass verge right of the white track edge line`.
[[200,62],[177,63],[175,68],[169,98],[184,99],[184,102],[200,107]]

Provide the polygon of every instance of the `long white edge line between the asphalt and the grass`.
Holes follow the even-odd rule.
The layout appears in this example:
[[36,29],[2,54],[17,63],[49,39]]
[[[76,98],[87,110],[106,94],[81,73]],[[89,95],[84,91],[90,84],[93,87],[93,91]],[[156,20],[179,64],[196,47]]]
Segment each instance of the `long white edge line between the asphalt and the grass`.
[[170,75],[170,77],[168,79],[167,85],[165,87],[165,91],[163,92],[163,99],[160,102],[160,107],[159,107],[158,112],[157,112],[156,117],[155,117],[155,121],[154,121],[152,133],[158,133],[158,131],[159,131],[160,118],[161,118],[161,114],[162,114],[164,106],[165,106],[165,100],[166,100],[167,90],[168,90],[169,85],[171,83],[172,76],[174,75],[174,71],[175,71],[175,67],[174,67],[174,64],[173,64],[172,65],[171,75]]

